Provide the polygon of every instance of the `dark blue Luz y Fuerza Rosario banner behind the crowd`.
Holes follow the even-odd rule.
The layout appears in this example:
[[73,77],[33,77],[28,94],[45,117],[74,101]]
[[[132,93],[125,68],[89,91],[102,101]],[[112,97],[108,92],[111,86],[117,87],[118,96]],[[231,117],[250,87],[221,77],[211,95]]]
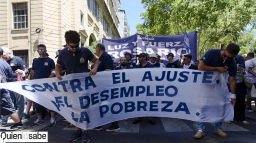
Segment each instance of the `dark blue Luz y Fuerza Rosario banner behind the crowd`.
[[186,49],[182,50],[184,34],[170,36],[152,36],[135,34],[121,39],[102,39],[102,43],[106,47],[106,52],[113,55],[117,61],[124,57],[126,52],[132,54],[132,61],[136,62],[136,55],[140,53],[156,53],[160,55],[165,64],[168,63],[166,55],[174,54],[174,60],[183,55],[191,54],[192,63],[196,60],[197,32],[187,33],[189,39],[190,52]]

